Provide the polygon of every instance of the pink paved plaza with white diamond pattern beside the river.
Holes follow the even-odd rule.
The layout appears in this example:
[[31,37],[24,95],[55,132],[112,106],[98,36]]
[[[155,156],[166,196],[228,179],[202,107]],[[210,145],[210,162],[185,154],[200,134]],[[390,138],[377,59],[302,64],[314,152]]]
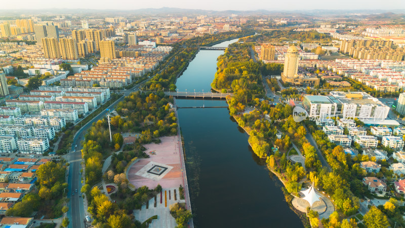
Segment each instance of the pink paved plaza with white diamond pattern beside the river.
[[143,145],[150,156],[134,163],[128,171],[128,180],[135,187],[178,188],[183,185],[177,136],[161,137],[161,143]]

